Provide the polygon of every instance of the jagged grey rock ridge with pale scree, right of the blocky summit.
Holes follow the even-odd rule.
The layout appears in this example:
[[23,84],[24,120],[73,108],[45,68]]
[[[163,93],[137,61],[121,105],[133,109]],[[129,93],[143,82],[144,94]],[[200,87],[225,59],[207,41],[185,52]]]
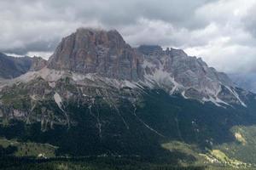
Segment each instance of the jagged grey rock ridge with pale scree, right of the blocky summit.
[[182,94],[184,98],[211,101],[216,105],[245,105],[230,78],[209,67],[201,58],[175,48],[143,46],[138,50],[144,54],[144,77],[150,86],[157,85],[169,94]]

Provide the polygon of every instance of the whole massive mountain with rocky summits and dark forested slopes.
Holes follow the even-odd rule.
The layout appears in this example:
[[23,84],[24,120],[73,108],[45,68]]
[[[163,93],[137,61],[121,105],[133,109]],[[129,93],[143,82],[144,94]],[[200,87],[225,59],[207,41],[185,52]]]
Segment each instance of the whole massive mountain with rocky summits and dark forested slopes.
[[51,144],[55,156],[256,163],[256,95],[201,58],[80,28],[35,63],[0,83],[0,136],[10,141]]

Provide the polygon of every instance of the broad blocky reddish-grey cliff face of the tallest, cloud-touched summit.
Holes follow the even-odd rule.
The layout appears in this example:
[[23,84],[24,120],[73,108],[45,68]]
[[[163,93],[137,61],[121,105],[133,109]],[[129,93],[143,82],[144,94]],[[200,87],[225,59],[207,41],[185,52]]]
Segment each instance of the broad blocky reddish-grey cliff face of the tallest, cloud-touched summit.
[[49,68],[98,73],[103,77],[137,80],[142,77],[136,50],[118,31],[80,28],[62,39],[49,59]]

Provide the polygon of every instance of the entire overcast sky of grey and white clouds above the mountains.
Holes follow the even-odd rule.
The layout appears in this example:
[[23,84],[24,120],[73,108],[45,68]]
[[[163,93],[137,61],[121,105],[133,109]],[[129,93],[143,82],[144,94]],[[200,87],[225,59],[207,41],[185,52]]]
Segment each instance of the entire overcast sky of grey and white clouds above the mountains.
[[256,0],[1,0],[0,52],[48,59],[79,27],[132,47],[182,48],[227,73],[256,72]]

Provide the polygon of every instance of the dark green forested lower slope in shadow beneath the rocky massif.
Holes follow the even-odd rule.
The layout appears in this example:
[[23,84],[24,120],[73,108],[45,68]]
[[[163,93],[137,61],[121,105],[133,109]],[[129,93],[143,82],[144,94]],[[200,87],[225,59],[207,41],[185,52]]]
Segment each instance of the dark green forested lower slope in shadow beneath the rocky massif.
[[[201,165],[211,163],[203,155],[211,154],[209,150],[221,144],[235,142],[237,147],[246,148],[247,145],[236,142],[230,128],[253,125],[256,118],[250,112],[254,109],[253,104],[244,111],[239,105],[224,108],[212,103],[201,104],[178,95],[170,96],[160,89],[143,89],[143,92],[136,105],[119,101],[119,112],[111,109],[101,96],[96,97],[95,105],[90,110],[89,105],[78,107],[76,102],[65,102],[69,120],[75,122],[70,127],[55,125],[42,131],[41,123],[9,121],[9,125],[2,125],[0,133],[8,139],[18,138],[58,146],[57,156],[146,156],[164,159],[172,164],[183,160],[184,165],[193,165],[195,161],[201,161]],[[54,99],[44,105],[54,108],[56,113],[60,112]],[[99,125],[99,122],[102,124]],[[177,148],[164,150],[161,146],[172,141],[195,145],[192,150],[194,155]],[[251,148],[250,153],[253,151]],[[229,156],[230,159],[247,162],[239,155]],[[214,159],[214,155],[212,157]],[[220,160],[214,163],[218,165],[224,162]]]

